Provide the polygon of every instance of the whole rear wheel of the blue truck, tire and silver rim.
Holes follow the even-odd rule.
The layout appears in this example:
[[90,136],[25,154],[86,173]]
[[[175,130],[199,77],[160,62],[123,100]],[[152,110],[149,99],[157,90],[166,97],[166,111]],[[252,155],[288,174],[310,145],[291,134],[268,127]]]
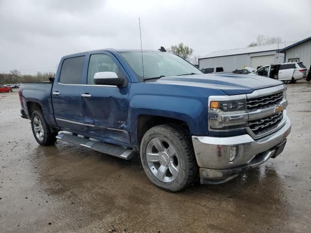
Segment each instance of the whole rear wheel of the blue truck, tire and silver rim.
[[42,146],[52,145],[56,142],[58,132],[51,132],[43,113],[36,110],[31,116],[31,127],[35,136],[35,140]]

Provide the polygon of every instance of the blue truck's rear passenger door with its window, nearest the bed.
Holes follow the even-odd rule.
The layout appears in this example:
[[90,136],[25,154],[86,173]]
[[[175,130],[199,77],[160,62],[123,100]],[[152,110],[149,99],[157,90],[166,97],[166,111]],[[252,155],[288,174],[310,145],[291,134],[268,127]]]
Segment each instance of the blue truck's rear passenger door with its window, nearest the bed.
[[85,56],[65,59],[52,88],[52,103],[57,125],[62,130],[76,133],[85,133],[81,109],[81,77],[84,61]]

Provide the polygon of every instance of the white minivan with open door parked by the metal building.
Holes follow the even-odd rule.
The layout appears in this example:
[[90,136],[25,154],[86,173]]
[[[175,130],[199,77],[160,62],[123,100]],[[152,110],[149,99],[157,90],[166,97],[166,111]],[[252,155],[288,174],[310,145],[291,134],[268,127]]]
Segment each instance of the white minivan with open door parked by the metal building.
[[260,67],[257,75],[277,79],[283,83],[294,83],[307,77],[307,68],[302,62],[275,63]]

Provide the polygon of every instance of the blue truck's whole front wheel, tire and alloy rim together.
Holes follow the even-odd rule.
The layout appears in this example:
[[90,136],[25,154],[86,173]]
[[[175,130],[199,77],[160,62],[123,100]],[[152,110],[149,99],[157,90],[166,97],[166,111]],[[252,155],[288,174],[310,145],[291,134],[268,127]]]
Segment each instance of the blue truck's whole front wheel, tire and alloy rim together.
[[141,140],[140,158],[149,180],[169,191],[186,188],[198,174],[190,134],[178,125],[148,130]]

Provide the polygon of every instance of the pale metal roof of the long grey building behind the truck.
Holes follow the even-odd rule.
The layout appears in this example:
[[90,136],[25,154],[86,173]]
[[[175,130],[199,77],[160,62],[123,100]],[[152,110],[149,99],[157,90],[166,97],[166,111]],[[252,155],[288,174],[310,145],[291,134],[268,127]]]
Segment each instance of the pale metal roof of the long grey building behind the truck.
[[211,52],[202,58],[210,58],[210,57],[223,57],[223,56],[230,56],[230,55],[238,55],[238,54],[245,54],[245,53],[254,53],[254,52],[264,52],[264,51],[273,51],[273,50],[281,50],[290,45],[293,45],[297,41],[290,41],[290,42],[283,42],[271,45],[261,45],[261,46],[254,46],[254,47],[246,47],[246,48],[239,48],[233,50],[222,50],[222,51],[215,51]]

